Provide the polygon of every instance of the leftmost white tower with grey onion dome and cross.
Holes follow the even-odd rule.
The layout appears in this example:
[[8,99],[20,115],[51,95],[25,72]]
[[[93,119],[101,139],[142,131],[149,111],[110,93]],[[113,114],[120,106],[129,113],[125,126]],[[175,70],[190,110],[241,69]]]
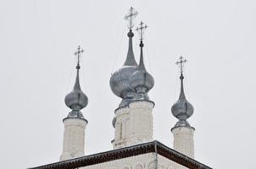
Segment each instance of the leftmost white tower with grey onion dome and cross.
[[79,82],[80,57],[83,50],[79,46],[75,55],[77,56],[76,79],[74,89],[65,97],[66,106],[72,111],[63,120],[64,140],[63,151],[60,161],[69,160],[84,155],[85,129],[87,121],[81,113],[81,109],[87,106],[88,98],[82,92]]

